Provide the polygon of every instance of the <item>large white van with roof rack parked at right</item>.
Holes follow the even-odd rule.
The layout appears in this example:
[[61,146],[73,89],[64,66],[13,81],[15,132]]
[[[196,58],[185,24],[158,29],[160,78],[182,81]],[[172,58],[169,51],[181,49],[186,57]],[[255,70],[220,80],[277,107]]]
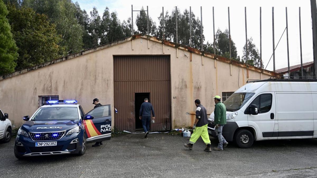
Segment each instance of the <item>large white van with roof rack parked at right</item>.
[[[266,79],[247,83],[223,102],[223,137],[240,148],[254,141],[317,138],[316,79]],[[210,120],[214,113],[210,114]],[[215,125],[208,132],[216,137]]]

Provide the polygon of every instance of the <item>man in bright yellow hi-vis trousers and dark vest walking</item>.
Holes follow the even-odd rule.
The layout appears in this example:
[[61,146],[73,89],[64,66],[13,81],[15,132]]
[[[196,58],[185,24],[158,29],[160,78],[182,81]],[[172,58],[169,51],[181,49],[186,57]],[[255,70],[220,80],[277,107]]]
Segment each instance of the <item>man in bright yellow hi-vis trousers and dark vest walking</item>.
[[194,143],[201,137],[206,144],[204,151],[211,152],[211,144],[209,139],[209,134],[207,130],[208,118],[206,108],[200,104],[200,100],[195,100],[196,109],[196,120],[193,126],[194,133],[191,135],[189,143],[184,144],[188,149],[193,149]]

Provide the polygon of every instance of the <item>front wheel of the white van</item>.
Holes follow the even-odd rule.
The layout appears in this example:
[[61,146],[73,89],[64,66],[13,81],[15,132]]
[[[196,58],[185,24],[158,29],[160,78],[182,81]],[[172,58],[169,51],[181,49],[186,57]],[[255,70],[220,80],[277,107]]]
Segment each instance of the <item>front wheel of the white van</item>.
[[240,148],[250,148],[254,142],[253,134],[249,130],[239,130],[235,135],[236,144]]

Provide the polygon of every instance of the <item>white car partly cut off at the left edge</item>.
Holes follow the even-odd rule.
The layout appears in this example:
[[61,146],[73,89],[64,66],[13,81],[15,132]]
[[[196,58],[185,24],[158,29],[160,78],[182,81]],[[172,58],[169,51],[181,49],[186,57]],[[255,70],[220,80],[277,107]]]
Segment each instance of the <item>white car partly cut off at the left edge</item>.
[[0,109],[0,141],[3,143],[10,142],[12,135],[11,121],[8,119],[8,114]]

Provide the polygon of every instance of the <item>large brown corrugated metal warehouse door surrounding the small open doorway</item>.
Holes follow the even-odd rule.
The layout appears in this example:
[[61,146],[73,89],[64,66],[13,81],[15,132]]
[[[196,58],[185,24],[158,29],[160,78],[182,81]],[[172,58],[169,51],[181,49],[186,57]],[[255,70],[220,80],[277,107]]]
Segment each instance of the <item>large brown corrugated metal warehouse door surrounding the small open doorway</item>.
[[170,56],[113,56],[114,126],[135,131],[135,93],[150,93],[155,111],[151,131],[171,129]]

